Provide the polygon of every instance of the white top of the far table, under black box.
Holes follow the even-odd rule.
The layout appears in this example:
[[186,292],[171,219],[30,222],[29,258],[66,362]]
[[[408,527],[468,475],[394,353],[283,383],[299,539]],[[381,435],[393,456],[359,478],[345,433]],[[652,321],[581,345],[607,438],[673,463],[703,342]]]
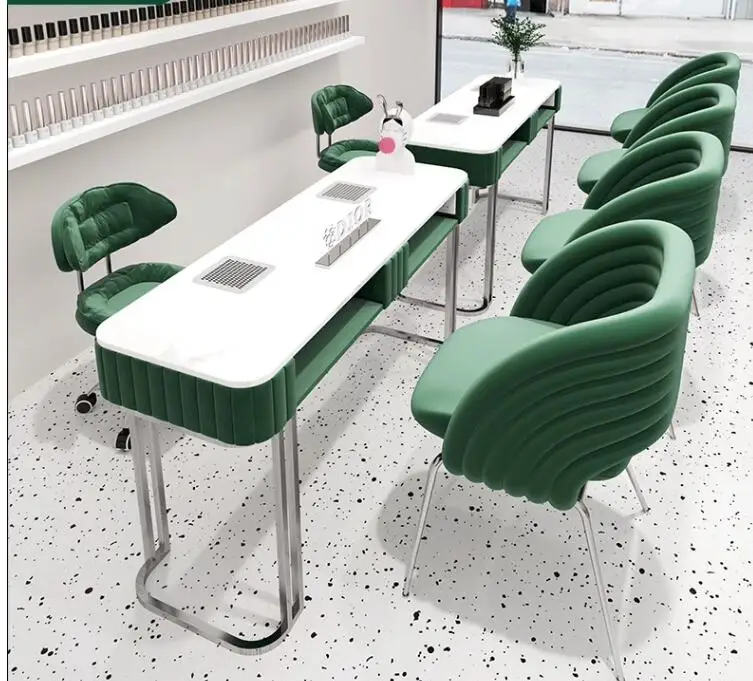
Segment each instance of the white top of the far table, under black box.
[[[499,75],[499,74],[497,74]],[[513,81],[515,99],[500,116],[474,115],[478,87],[494,75],[479,76],[418,116],[409,144],[468,154],[493,154],[541,106],[554,103],[559,81],[523,76]],[[467,116],[461,123],[433,121],[436,114]]]

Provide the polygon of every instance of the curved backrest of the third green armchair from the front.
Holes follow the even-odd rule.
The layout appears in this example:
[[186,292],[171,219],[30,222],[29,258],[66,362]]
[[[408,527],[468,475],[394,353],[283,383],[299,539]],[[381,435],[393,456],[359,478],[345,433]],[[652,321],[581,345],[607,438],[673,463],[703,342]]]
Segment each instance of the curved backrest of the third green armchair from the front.
[[726,158],[732,143],[736,105],[737,95],[729,85],[694,85],[650,107],[630,131],[623,148],[634,149],[673,132],[708,132],[719,138]]

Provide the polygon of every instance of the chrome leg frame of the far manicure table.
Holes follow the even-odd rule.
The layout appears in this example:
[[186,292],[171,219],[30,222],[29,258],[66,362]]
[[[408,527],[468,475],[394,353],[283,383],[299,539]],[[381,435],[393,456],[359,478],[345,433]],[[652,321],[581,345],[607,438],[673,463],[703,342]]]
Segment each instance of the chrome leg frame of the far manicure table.
[[[487,209],[486,209],[486,252],[484,255],[484,289],[481,303],[473,307],[458,307],[456,309],[458,313],[464,315],[478,315],[486,312],[492,303],[494,296],[494,256],[496,249],[496,234],[497,234],[497,199],[504,198],[513,201],[523,201],[526,203],[534,203],[541,206],[541,212],[547,213],[549,211],[549,199],[551,195],[552,186],[552,158],[554,151],[554,119],[552,116],[547,123],[547,138],[546,138],[546,154],[544,157],[544,187],[541,199],[532,199],[527,197],[517,197],[502,195],[499,193],[499,180],[492,186],[487,188],[476,188],[473,190],[474,199],[478,199],[482,196],[486,196]],[[414,298],[413,296],[399,296],[398,300],[402,300],[410,305],[417,305],[419,307],[425,307],[430,310],[444,310],[445,303],[435,303],[431,300],[423,300],[421,298]],[[445,301],[446,302],[446,301]]]

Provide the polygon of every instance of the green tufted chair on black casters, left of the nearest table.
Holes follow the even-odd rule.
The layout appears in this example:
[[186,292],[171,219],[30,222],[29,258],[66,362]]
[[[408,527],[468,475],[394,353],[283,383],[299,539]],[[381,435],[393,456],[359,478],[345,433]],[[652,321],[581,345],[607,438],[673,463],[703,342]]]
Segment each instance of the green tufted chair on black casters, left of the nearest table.
[[[139,263],[113,271],[111,255],[156,232],[177,215],[175,204],[143,185],[120,182],[93,187],[66,201],[52,218],[52,252],[62,272],[78,275],[76,321],[94,336],[97,327],[118,310],[169,279],[180,270],[167,263]],[[89,286],[84,272],[103,260],[107,273]],[[85,414],[97,401],[93,390],[76,399]],[[130,448],[124,428],[116,447]]]

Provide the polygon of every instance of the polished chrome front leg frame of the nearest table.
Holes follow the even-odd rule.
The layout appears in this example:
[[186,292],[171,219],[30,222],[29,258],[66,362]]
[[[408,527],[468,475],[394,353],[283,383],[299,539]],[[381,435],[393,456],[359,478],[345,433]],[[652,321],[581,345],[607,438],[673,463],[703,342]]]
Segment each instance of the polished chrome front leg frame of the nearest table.
[[[148,431],[148,438],[145,438]],[[151,490],[147,476],[147,443],[151,472]],[[299,501],[298,432],[295,416],[284,430],[271,440],[273,486],[277,495],[277,566],[280,587],[280,624],[271,634],[259,639],[242,639],[199,617],[182,611],[149,593],[148,580],[170,553],[165,482],[159,434],[153,420],[132,415],[131,453],[136,480],[136,499],[144,544],[144,564],[136,576],[136,596],[151,612],[164,617],[199,636],[236,653],[262,653],[285,637],[303,609],[303,562],[301,555],[301,510]],[[150,501],[151,498],[151,501]],[[152,504],[157,533],[152,522]],[[155,539],[157,541],[155,547]]]

